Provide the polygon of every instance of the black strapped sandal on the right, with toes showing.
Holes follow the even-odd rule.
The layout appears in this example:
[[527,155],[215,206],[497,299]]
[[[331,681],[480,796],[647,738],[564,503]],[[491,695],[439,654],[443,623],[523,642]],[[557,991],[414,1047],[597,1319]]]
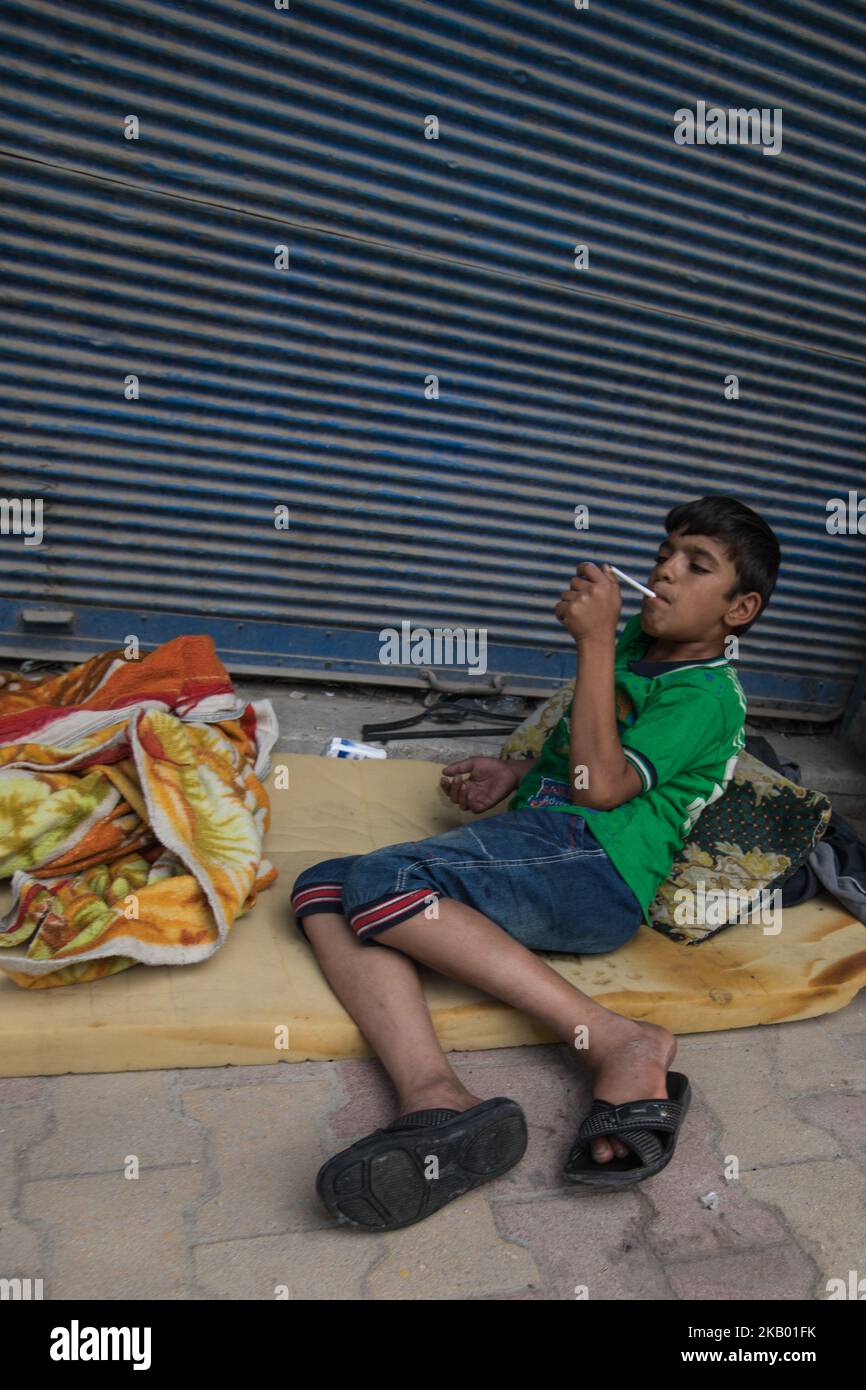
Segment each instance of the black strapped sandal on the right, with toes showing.
[[[667,1073],[667,1101],[627,1101],[624,1105],[595,1099],[563,1169],[566,1182],[575,1183],[584,1193],[621,1191],[667,1168],[692,1098],[683,1072]],[[596,1163],[591,1141],[603,1134],[621,1138],[634,1152]]]

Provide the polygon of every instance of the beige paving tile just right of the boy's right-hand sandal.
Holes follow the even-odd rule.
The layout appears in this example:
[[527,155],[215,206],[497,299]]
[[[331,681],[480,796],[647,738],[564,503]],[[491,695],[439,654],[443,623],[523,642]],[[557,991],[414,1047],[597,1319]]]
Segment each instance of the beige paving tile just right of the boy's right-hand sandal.
[[699,1093],[721,1123],[720,1156],[738,1158],[741,1172],[838,1152],[830,1134],[799,1120],[778,1094],[770,1034],[769,1027],[688,1034],[674,1059],[674,1070],[689,1077],[692,1094]]

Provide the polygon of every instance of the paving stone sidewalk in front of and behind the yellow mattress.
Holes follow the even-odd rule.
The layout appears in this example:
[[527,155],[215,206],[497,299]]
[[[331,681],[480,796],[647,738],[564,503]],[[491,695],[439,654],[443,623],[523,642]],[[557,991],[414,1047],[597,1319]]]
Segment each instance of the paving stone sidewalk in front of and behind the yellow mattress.
[[[281,709],[279,746],[318,752],[320,734],[360,735],[361,706],[389,712],[364,696],[352,717],[349,696],[329,709],[320,692],[299,734],[302,703]],[[591,1301],[823,1300],[828,1279],[866,1277],[866,991],[819,1019],[677,1041],[694,1093],[677,1154],[620,1195],[560,1182],[591,1101],[571,1049],[449,1054],[474,1094],[523,1105],[527,1154],[384,1236],[335,1227],[313,1186],[396,1115],[375,1059],[0,1079],[0,1277],[42,1277],[49,1300]]]

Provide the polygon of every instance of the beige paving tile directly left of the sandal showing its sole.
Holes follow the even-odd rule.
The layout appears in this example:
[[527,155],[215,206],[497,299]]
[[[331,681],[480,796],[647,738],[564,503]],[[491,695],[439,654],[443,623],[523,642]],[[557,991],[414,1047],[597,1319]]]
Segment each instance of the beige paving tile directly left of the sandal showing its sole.
[[196,1211],[196,1241],[332,1225],[316,1197],[316,1175],[329,1158],[328,1077],[192,1087],[181,1098],[183,1113],[209,1131],[213,1180]]

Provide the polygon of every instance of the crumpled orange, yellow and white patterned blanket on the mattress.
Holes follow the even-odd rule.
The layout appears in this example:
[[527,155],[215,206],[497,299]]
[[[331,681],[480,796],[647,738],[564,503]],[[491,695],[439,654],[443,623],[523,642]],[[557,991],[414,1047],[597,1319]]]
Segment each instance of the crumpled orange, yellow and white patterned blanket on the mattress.
[[[210,637],[61,676],[0,671],[0,970],[24,988],[193,965],[277,870],[270,701],[245,703]],[[19,948],[19,949],[15,949]]]

